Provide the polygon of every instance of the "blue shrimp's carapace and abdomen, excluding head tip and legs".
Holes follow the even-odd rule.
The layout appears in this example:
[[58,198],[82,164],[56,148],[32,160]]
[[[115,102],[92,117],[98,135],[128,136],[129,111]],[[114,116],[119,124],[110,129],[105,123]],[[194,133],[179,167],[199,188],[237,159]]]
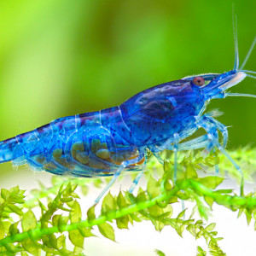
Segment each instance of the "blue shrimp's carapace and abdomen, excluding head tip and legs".
[[[187,137],[203,106],[202,95],[189,81],[160,84],[120,107],[55,119],[3,141],[0,160],[59,175],[111,175],[139,154],[137,163],[143,163],[146,148],[157,150],[175,132]],[[137,171],[137,163],[127,169]]]

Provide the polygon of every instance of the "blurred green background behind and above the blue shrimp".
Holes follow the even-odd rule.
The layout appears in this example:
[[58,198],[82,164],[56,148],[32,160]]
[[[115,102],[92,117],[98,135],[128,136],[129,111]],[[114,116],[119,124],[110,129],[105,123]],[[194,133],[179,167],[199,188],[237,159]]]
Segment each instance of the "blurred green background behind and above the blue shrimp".
[[[243,60],[256,34],[255,1],[1,1],[0,139],[119,105],[156,84],[230,70],[232,3]],[[247,69],[256,70],[255,57],[256,49]],[[255,94],[256,80],[232,91]],[[255,145],[255,99],[215,100],[212,108],[232,126],[228,148]],[[26,189],[38,178],[11,170],[9,163],[0,166],[1,187],[16,177]]]

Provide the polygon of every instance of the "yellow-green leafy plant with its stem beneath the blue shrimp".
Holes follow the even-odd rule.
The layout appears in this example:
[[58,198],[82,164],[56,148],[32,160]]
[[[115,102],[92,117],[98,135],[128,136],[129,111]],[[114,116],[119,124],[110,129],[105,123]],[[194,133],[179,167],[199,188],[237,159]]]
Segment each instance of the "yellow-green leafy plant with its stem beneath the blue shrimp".
[[[243,167],[244,176],[251,179],[255,172],[255,150],[242,148],[236,152],[230,152],[236,162]],[[179,236],[184,231],[189,231],[195,239],[203,237],[207,244],[207,251],[197,247],[197,255],[225,255],[218,246],[218,237],[215,224],[206,224],[212,204],[217,203],[234,212],[246,214],[247,223],[256,218],[256,198],[254,193],[248,195],[236,195],[232,189],[217,189],[224,181],[224,177],[204,175],[201,172],[209,172],[219,163],[219,170],[228,172],[231,176],[241,179],[241,175],[234,171],[228,160],[218,153],[208,154],[202,157],[200,154],[183,154],[179,161],[177,182],[173,183],[173,163],[166,161],[164,168],[154,159],[148,162],[147,189],[138,189],[137,195],[127,191],[120,191],[113,196],[109,192],[102,200],[101,213],[95,213],[98,205],[87,209],[87,218],[82,218],[79,205],[77,188],[82,189],[83,196],[88,191],[87,184],[91,179],[61,179],[54,177],[52,186],[45,188],[40,184],[40,189],[31,193],[33,197],[26,199],[25,190],[15,187],[1,189],[0,197],[0,253],[1,255],[22,256],[40,255],[84,255],[84,240],[89,236],[95,236],[92,228],[98,228],[102,236],[115,241],[113,226],[118,229],[127,229],[128,225],[141,221],[149,221],[155,230],[162,230],[171,226]],[[155,173],[150,169],[157,168],[159,178],[155,179]],[[222,173],[223,175],[224,173]],[[153,177],[154,176],[154,177]],[[223,175],[224,176],[224,175]],[[100,180],[95,180],[99,186]],[[48,205],[40,200],[46,197]],[[172,206],[180,201],[194,201],[195,207],[189,218],[185,217],[186,210],[173,216]],[[41,214],[35,210],[40,209]],[[195,219],[195,212],[201,219]],[[68,235],[67,235],[68,234]],[[67,240],[73,243],[73,248],[67,247]],[[158,255],[165,255],[160,250]]]

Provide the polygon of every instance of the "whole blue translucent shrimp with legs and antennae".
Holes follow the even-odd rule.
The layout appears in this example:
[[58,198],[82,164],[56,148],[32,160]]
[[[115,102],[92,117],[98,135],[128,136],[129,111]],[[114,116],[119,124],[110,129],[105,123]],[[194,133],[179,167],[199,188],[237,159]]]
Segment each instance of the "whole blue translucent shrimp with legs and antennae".
[[[225,151],[227,127],[204,113],[212,99],[226,96],[252,96],[227,92],[255,72],[239,67],[237,40],[235,65],[225,73],[207,73],[185,77],[143,90],[118,107],[55,119],[48,125],[17,135],[0,143],[0,163],[28,164],[36,171],[73,177],[113,176],[96,199],[108,191],[121,172],[138,172],[130,192],[142,177],[151,151],[162,163],[160,152],[174,151],[174,182],[177,178],[177,152],[195,148],[218,148],[241,172]],[[256,96],[253,96],[256,97]],[[187,142],[199,128],[206,134]],[[221,145],[218,131],[224,138]]]

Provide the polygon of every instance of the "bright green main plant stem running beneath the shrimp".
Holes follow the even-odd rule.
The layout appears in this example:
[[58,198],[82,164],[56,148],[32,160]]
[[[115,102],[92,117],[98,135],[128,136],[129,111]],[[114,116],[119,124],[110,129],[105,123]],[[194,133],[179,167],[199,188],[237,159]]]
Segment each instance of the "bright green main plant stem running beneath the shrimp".
[[13,236],[7,236],[2,240],[0,240],[0,246],[4,246],[5,244],[13,243],[17,241],[23,241],[26,238],[31,238],[33,241],[36,241],[44,235],[50,235],[50,234],[63,232],[63,231],[78,230],[79,227],[82,228],[82,227],[92,227],[95,225],[99,225],[116,218],[121,218],[132,212],[139,212],[148,207],[153,207],[154,205],[156,205],[161,201],[168,201],[173,196],[177,195],[178,191],[185,190],[185,189],[193,189],[195,193],[198,195],[205,195],[205,196],[211,197],[216,203],[218,203],[219,205],[223,205],[225,207],[231,207],[236,205],[243,206],[243,207],[256,207],[256,198],[221,195],[218,192],[214,192],[211,189],[208,189],[206,186],[196,182],[193,179],[186,179],[180,183],[177,183],[177,185],[174,188],[172,188],[172,190],[166,191],[165,193],[162,193],[151,200],[142,201],[137,204],[133,204],[129,207],[122,208],[118,211],[108,212],[106,216],[100,216],[90,221],[84,220],[79,223],[62,225],[60,227],[55,226],[50,228],[44,228],[42,230],[37,228],[34,230],[28,230],[26,232],[15,234]]

